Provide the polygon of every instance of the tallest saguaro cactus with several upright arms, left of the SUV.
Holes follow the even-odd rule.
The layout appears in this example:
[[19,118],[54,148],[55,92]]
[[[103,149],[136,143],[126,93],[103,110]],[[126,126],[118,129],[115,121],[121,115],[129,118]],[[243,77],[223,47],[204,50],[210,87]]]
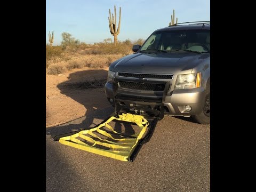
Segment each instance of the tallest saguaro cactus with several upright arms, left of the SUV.
[[119,22],[118,22],[118,27],[116,27],[116,5],[114,6],[115,9],[115,18],[112,13],[112,18],[111,18],[111,12],[109,9],[109,17],[108,17],[108,23],[109,23],[109,30],[111,35],[114,36],[114,43],[115,45],[117,44],[117,35],[120,33],[120,25],[121,25],[121,7],[119,7]]

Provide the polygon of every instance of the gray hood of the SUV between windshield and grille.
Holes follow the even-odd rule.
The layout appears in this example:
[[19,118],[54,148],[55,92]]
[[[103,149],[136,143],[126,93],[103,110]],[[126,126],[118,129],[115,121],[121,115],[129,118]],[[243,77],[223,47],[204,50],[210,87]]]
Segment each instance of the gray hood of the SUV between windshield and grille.
[[210,54],[136,53],[111,63],[109,70],[130,73],[189,74]]

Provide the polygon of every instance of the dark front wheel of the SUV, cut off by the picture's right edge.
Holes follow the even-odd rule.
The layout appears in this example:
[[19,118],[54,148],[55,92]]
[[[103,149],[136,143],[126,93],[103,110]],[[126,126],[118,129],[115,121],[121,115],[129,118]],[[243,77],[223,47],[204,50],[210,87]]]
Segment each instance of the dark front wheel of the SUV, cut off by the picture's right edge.
[[210,92],[206,94],[204,101],[204,108],[199,115],[193,116],[195,121],[200,124],[210,123]]

